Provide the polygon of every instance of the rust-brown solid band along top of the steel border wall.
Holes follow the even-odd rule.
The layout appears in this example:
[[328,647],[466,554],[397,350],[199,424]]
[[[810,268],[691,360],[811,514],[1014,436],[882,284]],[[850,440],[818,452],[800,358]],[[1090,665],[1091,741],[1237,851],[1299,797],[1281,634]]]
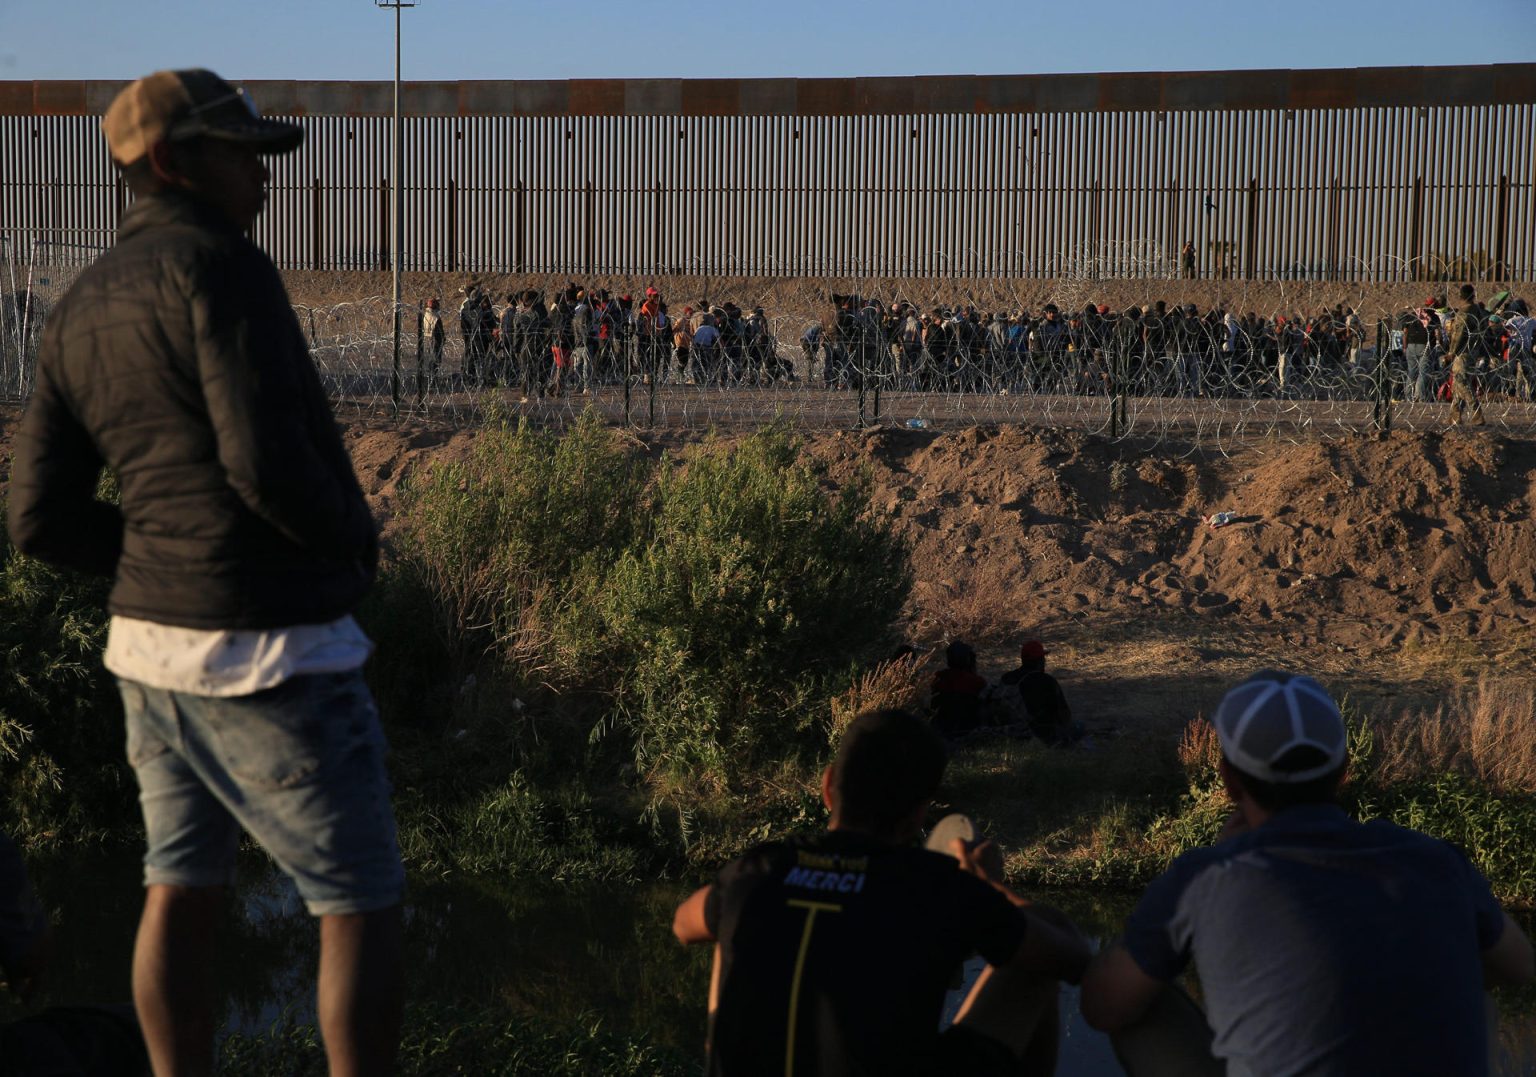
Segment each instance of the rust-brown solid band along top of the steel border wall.
[[[126,83],[0,81],[0,115],[101,115]],[[390,115],[387,81],[247,80],[270,115]],[[908,115],[1536,103],[1536,63],[900,78],[409,81],[412,117]]]

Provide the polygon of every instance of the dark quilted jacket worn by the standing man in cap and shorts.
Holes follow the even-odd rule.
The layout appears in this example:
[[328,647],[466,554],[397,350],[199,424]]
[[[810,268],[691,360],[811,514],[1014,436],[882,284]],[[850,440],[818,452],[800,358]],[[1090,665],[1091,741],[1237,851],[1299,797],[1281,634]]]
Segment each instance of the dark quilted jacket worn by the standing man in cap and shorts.
[[49,316],[9,533],[158,624],[319,624],[367,590],[376,530],[283,281],[217,212],[137,201]]

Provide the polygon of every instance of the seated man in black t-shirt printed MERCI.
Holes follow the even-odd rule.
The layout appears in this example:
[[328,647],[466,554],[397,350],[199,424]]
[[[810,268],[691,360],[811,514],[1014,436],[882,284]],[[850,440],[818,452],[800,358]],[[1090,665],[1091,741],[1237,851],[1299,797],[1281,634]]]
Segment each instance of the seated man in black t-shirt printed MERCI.
[[[1054,1071],[1057,980],[1077,982],[1086,943],[1003,886],[989,843],[917,845],[945,762],[923,719],[860,714],[822,774],[829,830],[746,853],[677,906],[680,942],[717,943],[711,1077]],[[989,966],[940,1034],[974,953]]]

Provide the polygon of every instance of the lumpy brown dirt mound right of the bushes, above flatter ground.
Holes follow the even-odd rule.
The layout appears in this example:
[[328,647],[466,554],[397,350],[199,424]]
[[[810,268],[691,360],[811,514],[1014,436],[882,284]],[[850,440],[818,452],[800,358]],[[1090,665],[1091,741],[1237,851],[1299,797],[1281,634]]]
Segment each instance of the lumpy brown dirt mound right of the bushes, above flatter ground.
[[[1201,458],[978,427],[814,444],[842,476],[869,469],[929,602],[985,588],[1018,628],[1180,611],[1353,650],[1536,619],[1525,441],[1393,435]],[[1204,525],[1218,510],[1235,521]]]

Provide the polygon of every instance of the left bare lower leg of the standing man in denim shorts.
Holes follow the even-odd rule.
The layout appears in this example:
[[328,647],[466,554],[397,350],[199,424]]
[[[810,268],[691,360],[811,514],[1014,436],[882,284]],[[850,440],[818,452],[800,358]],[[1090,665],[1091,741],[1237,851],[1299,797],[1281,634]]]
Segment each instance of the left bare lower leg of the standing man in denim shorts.
[[134,943],[134,1009],[157,1077],[214,1072],[212,949],[223,886],[144,890]]

